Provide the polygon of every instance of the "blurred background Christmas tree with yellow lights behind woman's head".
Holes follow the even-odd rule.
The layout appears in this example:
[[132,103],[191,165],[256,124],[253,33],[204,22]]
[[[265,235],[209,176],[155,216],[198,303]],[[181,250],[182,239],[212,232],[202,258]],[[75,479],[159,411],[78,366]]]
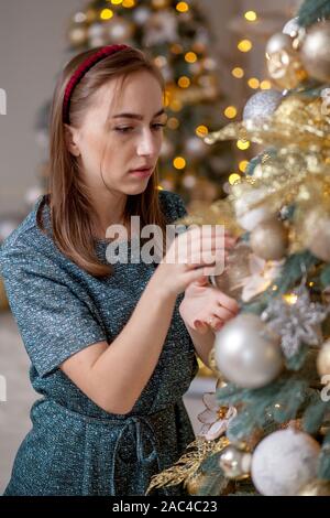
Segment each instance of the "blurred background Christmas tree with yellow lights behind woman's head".
[[[142,48],[160,67],[168,114],[160,188],[180,193],[186,203],[222,196],[233,163],[231,144],[220,145],[219,153],[219,147],[204,142],[223,118],[217,61],[210,55],[213,39],[196,0],[95,0],[74,13],[68,28],[68,60],[100,45],[125,43]],[[46,102],[36,123],[45,181],[48,111]]]

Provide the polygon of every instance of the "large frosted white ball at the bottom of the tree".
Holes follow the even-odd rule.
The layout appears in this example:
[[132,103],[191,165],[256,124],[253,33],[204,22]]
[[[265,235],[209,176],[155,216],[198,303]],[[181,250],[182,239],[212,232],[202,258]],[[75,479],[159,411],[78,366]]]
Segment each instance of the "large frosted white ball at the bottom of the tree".
[[287,429],[271,433],[254,450],[252,482],[265,496],[294,496],[317,477],[319,443],[307,433]]

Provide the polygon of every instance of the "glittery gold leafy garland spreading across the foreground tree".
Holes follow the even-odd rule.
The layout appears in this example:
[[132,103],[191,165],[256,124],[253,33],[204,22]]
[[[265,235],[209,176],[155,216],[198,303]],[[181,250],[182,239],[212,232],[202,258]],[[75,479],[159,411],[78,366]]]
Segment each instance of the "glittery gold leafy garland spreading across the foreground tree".
[[[246,212],[266,206],[273,214],[295,204],[288,252],[306,248],[306,214],[318,207],[320,216],[330,218],[330,116],[324,114],[322,98],[289,95],[272,117],[230,123],[204,140],[212,144],[230,139],[272,145],[276,154],[265,153],[253,176],[241,177],[226,199],[201,207],[198,214],[190,213],[180,223],[223,225],[240,237],[244,230],[237,222],[238,199],[246,199]],[[258,196],[248,202],[253,193]]]

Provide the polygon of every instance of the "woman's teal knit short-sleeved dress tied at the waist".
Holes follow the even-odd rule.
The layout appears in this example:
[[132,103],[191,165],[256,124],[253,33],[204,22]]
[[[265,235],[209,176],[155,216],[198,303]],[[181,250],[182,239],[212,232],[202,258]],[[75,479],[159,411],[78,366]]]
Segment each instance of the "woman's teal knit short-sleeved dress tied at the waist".
[[[169,223],[186,214],[182,198],[158,192]],[[158,363],[129,414],[108,413],[59,369],[96,342],[109,346],[122,331],[157,263],[117,263],[97,279],[66,258],[36,226],[34,209],[0,249],[0,272],[42,396],[31,409],[4,496],[144,495],[152,475],[173,465],[194,440],[182,397],[197,373],[178,295]],[[50,228],[50,208],[43,205]],[[129,249],[131,247],[129,241]],[[106,241],[96,242],[106,259]],[[132,336],[134,347],[134,336]],[[152,494],[184,495],[182,486]]]

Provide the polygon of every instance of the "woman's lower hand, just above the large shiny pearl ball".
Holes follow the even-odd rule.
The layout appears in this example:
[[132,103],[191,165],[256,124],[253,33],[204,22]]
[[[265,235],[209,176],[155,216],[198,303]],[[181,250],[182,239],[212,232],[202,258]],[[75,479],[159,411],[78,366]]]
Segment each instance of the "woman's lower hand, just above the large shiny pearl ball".
[[179,305],[184,322],[201,334],[209,327],[219,331],[238,312],[238,302],[209,284],[208,277],[202,281],[191,282]]

